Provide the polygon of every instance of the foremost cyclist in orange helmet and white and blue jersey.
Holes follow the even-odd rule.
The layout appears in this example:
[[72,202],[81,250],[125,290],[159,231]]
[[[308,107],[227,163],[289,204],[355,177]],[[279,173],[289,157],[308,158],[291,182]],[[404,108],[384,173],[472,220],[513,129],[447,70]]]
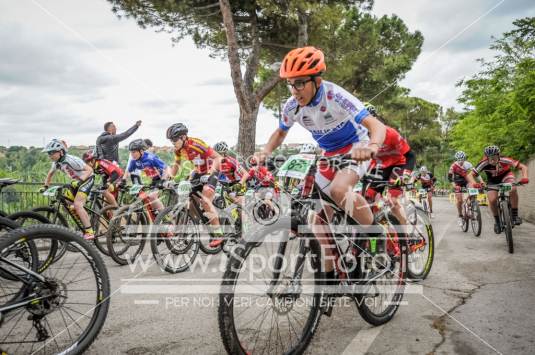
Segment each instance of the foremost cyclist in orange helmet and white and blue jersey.
[[[284,105],[279,127],[259,158],[265,159],[279,147],[296,122],[312,134],[325,156],[351,154],[359,165],[332,169],[320,164],[315,181],[361,225],[371,225],[372,212],[366,207],[366,200],[353,192],[353,186],[366,174],[370,159],[383,144],[386,128],[359,99],[323,80],[321,75],[326,70],[324,54],[315,47],[296,48],[284,57],[280,77],[286,80],[292,96]],[[318,225],[320,221],[316,222]],[[329,243],[317,230],[315,233],[322,244]],[[326,252],[329,256],[330,249]],[[330,277],[334,274],[334,265],[327,263],[325,266]]]

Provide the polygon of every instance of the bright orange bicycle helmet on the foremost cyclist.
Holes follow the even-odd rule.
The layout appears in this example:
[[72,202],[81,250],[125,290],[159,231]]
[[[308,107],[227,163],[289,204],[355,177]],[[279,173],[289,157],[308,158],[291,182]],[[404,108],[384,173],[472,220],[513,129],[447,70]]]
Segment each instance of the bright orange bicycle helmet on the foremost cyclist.
[[315,47],[292,49],[282,61],[279,75],[282,79],[319,75],[327,70],[323,52]]

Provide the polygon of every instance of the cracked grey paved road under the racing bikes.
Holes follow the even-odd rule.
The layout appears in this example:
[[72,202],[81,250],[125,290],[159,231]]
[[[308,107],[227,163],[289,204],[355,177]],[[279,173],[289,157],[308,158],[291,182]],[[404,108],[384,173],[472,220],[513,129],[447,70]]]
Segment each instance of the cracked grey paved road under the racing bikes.
[[[407,304],[378,328],[365,323],[352,303],[336,307],[332,317],[322,317],[309,353],[535,354],[535,226],[514,229],[510,255],[505,237],[493,233],[486,208],[476,238],[460,231],[446,199],[435,204],[436,255],[423,292],[406,295]],[[212,260],[202,277],[217,280],[222,258]],[[184,280],[199,275],[169,275],[155,267],[131,271],[111,261],[108,266],[117,292],[89,353],[224,353],[217,297],[206,294],[193,304],[191,297],[168,293],[192,287]]]

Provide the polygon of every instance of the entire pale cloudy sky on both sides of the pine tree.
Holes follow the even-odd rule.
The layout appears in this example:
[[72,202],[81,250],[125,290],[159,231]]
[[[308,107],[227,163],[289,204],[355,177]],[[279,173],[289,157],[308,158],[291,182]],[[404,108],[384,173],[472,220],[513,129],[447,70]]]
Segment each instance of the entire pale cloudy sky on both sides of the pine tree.
[[[105,0],[0,0],[0,145],[42,146],[53,137],[93,144],[105,121],[167,144],[165,129],[185,122],[193,136],[235,144],[238,106],[228,63],[189,40],[119,20]],[[420,30],[423,52],[402,85],[412,95],[457,106],[455,82],[490,58],[491,36],[535,16],[532,0],[376,0],[378,16],[397,14]],[[458,107],[458,106],[457,106]],[[276,127],[260,112],[257,142]],[[289,142],[310,142],[292,128]]]

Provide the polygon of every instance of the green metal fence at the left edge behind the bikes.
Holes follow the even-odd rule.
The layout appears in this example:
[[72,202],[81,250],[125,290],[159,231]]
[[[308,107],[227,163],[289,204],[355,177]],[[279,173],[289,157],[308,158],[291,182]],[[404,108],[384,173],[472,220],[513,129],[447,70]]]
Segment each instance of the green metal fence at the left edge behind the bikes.
[[49,198],[39,192],[41,183],[20,182],[0,191],[0,211],[11,214],[37,206],[47,206]]

